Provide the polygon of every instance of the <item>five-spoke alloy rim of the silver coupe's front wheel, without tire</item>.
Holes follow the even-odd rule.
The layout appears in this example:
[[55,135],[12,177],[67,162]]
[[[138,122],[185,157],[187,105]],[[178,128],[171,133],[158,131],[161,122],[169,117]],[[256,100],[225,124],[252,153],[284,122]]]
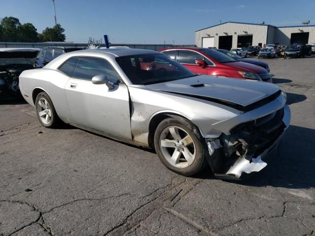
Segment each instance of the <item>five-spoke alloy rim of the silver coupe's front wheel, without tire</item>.
[[164,158],[174,167],[189,167],[195,160],[196,147],[191,136],[182,128],[170,126],[164,129],[159,145]]

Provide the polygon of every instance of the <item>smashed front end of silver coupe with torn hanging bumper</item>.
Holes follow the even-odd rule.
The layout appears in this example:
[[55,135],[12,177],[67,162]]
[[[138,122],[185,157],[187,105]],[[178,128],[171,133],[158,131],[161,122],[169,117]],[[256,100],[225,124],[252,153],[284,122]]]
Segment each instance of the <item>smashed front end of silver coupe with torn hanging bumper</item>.
[[289,121],[290,110],[285,105],[272,114],[237,125],[230,135],[206,139],[207,159],[215,176],[240,179],[243,173],[262,170],[267,166],[266,157],[277,147]]

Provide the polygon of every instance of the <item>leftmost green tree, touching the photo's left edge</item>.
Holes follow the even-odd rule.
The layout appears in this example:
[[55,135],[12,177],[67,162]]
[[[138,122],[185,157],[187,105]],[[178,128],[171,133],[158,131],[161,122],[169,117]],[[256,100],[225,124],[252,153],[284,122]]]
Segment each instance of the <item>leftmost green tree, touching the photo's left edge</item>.
[[1,20],[2,40],[16,42],[18,39],[18,28],[21,26],[19,19],[15,17],[4,17]]

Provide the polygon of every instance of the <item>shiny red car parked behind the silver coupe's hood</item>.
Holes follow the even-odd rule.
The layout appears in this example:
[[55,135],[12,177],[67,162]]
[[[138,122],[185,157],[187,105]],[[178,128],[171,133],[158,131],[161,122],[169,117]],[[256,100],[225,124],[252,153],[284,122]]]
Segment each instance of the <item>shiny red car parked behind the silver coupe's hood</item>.
[[167,48],[159,52],[177,60],[196,74],[252,79],[272,83],[268,71],[261,66],[237,61],[209,48]]

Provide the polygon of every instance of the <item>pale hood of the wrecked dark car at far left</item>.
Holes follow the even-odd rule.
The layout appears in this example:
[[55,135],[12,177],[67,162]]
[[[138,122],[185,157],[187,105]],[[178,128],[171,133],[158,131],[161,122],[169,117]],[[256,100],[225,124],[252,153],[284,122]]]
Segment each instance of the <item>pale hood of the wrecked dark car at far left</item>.
[[34,64],[39,52],[39,48],[0,48],[0,59],[26,59]]

